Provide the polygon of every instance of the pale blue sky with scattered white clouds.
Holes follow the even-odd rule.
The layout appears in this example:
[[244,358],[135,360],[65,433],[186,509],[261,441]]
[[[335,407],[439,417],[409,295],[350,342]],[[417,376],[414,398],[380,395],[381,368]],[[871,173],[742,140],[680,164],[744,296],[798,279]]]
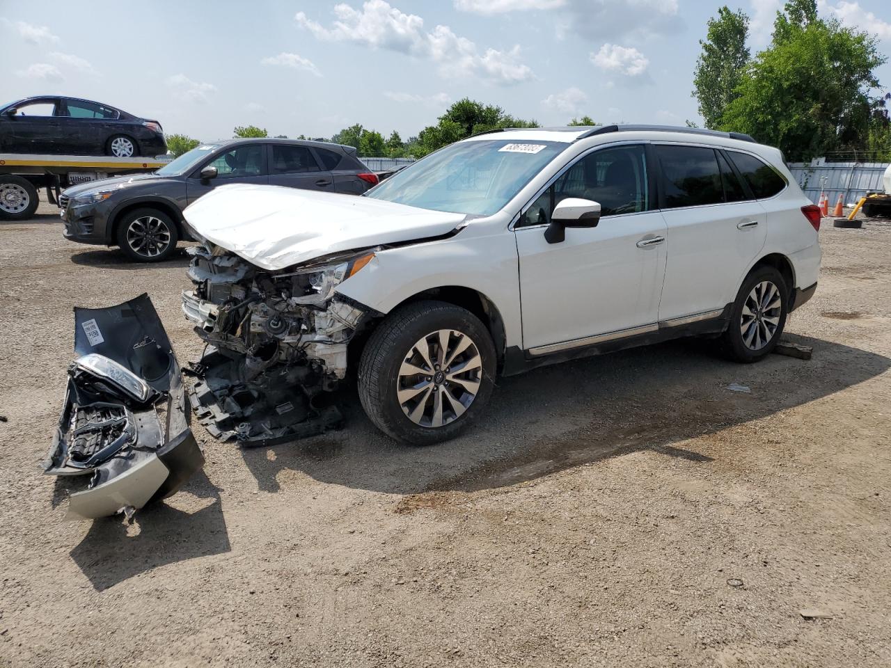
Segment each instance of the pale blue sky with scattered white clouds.
[[[0,0],[4,97],[66,94],[203,141],[236,125],[331,136],[362,123],[403,138],[465,95],[563,125],[698,119],[692,69],[707,0]],[[781,0],[743,0],[753,50]],[[891,55],[887,0],[821,0]],[[891,65],[879,69],[891,87]],[[819,85],[815,81],[814,85]],[[0,100],[7,102],[7,100]]]

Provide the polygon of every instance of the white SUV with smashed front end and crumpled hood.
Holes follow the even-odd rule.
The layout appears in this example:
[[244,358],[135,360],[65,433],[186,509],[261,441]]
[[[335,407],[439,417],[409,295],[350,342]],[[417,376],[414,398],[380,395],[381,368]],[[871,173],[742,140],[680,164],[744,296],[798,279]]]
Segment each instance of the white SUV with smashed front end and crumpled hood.
[[821,259],[780,151],[687,128],[478,134],[364,197],[231,185],[185,218],[192,404],[245,445],[336,427],[347,376],[381,430],[431,444],[498,374],[690,335],[754,362]]

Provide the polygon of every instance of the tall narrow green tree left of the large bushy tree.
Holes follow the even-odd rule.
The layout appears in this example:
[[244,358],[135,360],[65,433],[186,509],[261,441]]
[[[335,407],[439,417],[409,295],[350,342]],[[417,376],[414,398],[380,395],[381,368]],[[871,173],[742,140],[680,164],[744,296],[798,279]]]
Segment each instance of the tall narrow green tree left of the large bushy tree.
[[748,16],[724,5],[707,25],[706,41],[699,40],[702,53],[693,70],[692,95],[706,127],[714,129],[721,125],[727,105],[739,97],[736,87],[748,62]]

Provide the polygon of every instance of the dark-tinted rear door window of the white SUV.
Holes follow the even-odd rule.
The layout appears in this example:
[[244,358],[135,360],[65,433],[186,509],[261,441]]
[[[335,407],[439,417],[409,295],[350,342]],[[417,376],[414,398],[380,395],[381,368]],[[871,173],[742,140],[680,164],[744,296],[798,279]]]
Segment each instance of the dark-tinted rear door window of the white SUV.
[[657,145],[665,184],[665,207],[699,207],[724,200],[715,150],[701,146]]

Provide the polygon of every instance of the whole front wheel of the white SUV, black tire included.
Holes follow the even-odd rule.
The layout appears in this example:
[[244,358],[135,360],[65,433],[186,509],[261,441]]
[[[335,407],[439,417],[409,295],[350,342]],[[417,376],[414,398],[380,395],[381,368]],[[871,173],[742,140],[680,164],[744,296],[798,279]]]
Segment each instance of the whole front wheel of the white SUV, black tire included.
[[421,301],[397,309],[369,338],[359,399],[388,436],[413,445],[447,441],[470,426],[492,395],[495,345],[470,311]]

